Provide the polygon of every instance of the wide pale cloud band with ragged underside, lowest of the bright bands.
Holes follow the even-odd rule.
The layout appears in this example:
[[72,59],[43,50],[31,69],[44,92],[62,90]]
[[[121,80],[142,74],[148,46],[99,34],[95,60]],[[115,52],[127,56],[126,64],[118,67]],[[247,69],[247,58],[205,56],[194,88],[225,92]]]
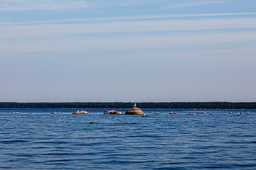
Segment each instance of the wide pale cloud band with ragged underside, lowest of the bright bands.
[[[1,57],[10,57],[12,55],[33,54],[35,52],[60,52],[65,54],[67,52],[95,52],[99,50],[103,51],[115,51],[118,50],[129,52],[130,50],[147,49],[148,53],[151,50],[158,52],[174,52],[175,47],[190,47],[191,45],[204,45],[210,47],[212,45],[233,45],[240,44],[242,42],[256,41],[255,32],[247,33],[210,33],[210,34],[186,34],[186,35],[162,35],[162,36],[129,36],[118,38],[70,38],[69,40],[63,40],[53,36],[46,36],[46,38],[34,40],[23,40],[23,42],[0,42],[1,45]],[[221,48],[217,48],[221,50]],[[248,47],[255,52],[254,47]],[[183,52],[183,50],[178,50]],[[68,53],[66,54],[68,55]],[[253,55],[252,55],[253,56]],[[138,57],[138,56],[137,56]],[[189,57],[188,53],[184,57]],[[196,57],[196,56],[194,56]],[[130,58],[130,57],[129,57]]]

